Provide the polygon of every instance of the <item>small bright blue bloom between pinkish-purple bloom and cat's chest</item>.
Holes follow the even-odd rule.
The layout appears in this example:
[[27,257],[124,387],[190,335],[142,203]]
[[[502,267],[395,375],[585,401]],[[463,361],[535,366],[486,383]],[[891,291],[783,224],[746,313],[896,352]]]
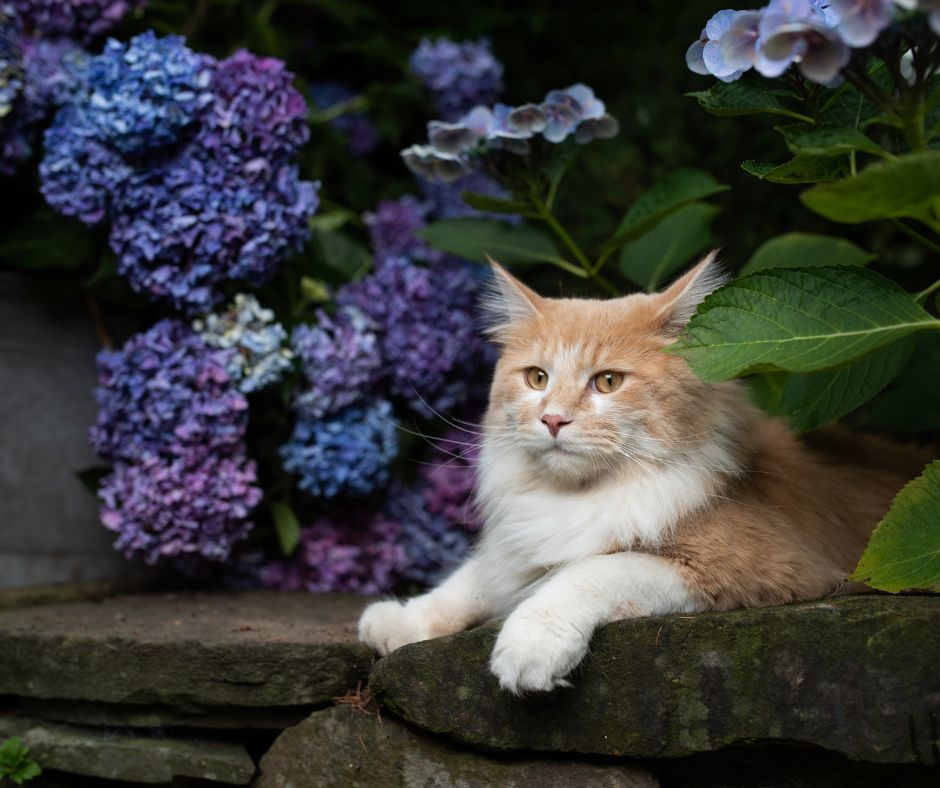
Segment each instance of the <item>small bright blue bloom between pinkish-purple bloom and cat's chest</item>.
[[284,469],[299,476],[299,487],[312,495],[368,495],[388,481],[388,466],[398,455],[397,430],[384,400],[352,405],[328,419],[301,411],[281,447]]

